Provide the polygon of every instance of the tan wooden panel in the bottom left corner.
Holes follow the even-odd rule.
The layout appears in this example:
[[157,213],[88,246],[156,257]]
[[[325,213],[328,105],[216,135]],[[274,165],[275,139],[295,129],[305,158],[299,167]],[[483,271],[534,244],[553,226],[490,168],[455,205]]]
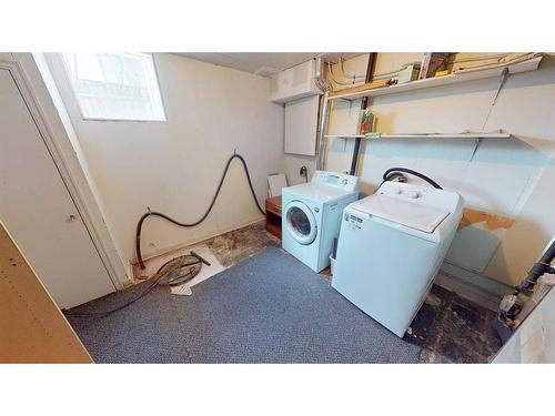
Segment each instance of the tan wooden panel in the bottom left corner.
[[0,363],[91,363],[68,321],[0,224]]

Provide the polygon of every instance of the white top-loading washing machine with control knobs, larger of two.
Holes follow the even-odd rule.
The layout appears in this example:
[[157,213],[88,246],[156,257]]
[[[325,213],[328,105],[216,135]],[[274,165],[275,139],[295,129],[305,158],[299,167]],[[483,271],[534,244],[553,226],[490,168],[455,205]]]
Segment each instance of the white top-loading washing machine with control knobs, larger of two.
[[402,337],[455,235],[455,192],[398,182],[345,209],[332,286]]

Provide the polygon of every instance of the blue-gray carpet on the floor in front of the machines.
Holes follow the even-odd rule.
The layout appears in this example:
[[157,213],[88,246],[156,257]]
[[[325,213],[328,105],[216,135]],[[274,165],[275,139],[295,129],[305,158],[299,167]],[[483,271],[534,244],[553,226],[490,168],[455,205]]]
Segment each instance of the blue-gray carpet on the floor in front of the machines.
[[[110,310],[142,285],[73,311]],[[421,351],[280,248],[192,290],[158,286],[120,312],[70,322],[97,363],[416,363]]]

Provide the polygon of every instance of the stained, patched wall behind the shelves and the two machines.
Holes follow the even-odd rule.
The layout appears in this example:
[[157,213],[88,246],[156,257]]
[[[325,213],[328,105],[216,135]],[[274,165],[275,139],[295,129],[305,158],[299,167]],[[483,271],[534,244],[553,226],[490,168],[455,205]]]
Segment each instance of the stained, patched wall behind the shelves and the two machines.
[[[376,73],[396,70],[420,61],[420,53],[380,53]],[[364,74],[367,55],[345,62],[349,73]],[[339,75],[340,69],[334,67]],[[404,140],[366,142],[362,148],[360,174],[363,191],[372,193],[383,172],[391,166],[421,171],[445,189],[460,192],[466,206],[516,219],[501,244],[490,253],[483,270],[468,271],[451,265],[461,277],[483,275],[513,285],[537,258],[555,234],[555,55],[544,58],[538,71],[511,75],[487,116],[498,79],[438,87],[374,98],[372,111],[377,131],[384,133],[457,133],[506,130],[511,141]],[[336,101],[330,115],[330,133],[356,132],[361,102]],[[329,143],[327,170],[350,169],[353,140]],[[285,155],[290,183],[299,183],[299,166],[314,159]],[[415,181],[416,182],[416,181]],[[477,256],[481,255],[480,251]],[[476,263],[484,258],[476,258]],[[476,267],[480,268],[480,267]]]

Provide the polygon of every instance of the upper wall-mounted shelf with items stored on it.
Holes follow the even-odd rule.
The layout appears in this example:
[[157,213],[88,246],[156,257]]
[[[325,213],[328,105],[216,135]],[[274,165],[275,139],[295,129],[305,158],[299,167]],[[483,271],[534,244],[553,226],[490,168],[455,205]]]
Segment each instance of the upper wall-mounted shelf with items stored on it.
[[485,78],[494,78],[494,77],[500,77],[505,68],[508,69],[508,73],[534,71],[537,70],[541,60],[542,57],[537,57],[527,61],[507,64],[503,67],[476,70],[472,72],[468,71],[468,72],[453,73],[450,75],[437,77],[437,78],[427,78],[425,80],[412,81],[404,84],[380,87],[362,91],[356,88],[354,91],[345,91],[345,92],[337,91],[334,92],[333,94],[330,94],[329,100],[351,101],[361,99],[363,97],[396,94],[406,91],[423,90],[433,87],[451,85],[467,81],[481,80]]

